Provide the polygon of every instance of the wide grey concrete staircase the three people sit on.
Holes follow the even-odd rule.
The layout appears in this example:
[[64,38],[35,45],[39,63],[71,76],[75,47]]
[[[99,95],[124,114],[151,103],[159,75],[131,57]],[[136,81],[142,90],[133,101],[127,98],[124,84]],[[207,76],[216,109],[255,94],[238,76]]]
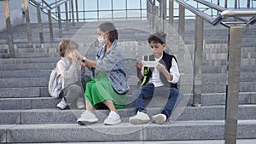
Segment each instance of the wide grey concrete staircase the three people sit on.
[[[144,20],[113,21],[119,29],[119,43],[125,48],[125,66],[131,90],[136,87],[135,60],[150,54],[146,42],[148,35],[154,32]],[[192,21],[187,21],[193,24]],[[94,59],[98,43],[96,26],[100,22],[77,23],[70,26],[69,32],[63,31],[63,37],[73,38],[79,43],[84,55]],[[177,25],[175,25],[177,26]],[[22,28],[23,27],[23,28]],[[57,26],[56,26],[57,27]],[[44,25],[45,32],[47,25]],[[223,140],[225,112],[225,78],[227,57],[227,30],[221,26],[205,25],[206,43],[203,56],[202,107],[192,104],[192,57],[193,25],[186,25],[185,60],[179,63],[182,77],[180,89],[183,95],[179,105],[165,124],[128,123],[134,115],[131,91],[128,94],[125,109],[119,110],[122,123],[114,126],[102,124],[108,116],[107,110],[97,110],[100,122],[86,126],[76,123],[82,110],[59,110],[55,106],[61,101],[49,97],[47,84],[50,70],[60,59],[56,44],[36,43],[37,28],[32,29],[34,44],[26,42],[24,26],[15,27],[15,58],[0,59],[0,141],[1,142],[83,142],[83,141],[191,141]],[[173,30],[177,30],[174,27]],[[241,85],[238,114],[238,139],[256,139],[256,43],[255,27],[244,31],[244,43],[241,59]],[[222,32],[218,37],[218,32]],[[254,33],[253,33],[254,32]],[[20,34],[19,34],[20,33]],[[55,31],[55,34],[58,32]],[[4,32],[0,34],[0,52],[6,53]],[[47,34],[45,34],[47,35]],[[254,37],[253,37],[254,36]],[[45,36],[45,39],[49,37]],[[22,41],[22,42],[21,42]],[[170,48],[176,45],[169,45]],[[172,49],[177,55],[178,49]],[[178,55],[177,55],[178,57]],[[90,72],[88,72],[90,74]],[[156,96],[148,103],[148,114],[160,112],[165,98]]]

